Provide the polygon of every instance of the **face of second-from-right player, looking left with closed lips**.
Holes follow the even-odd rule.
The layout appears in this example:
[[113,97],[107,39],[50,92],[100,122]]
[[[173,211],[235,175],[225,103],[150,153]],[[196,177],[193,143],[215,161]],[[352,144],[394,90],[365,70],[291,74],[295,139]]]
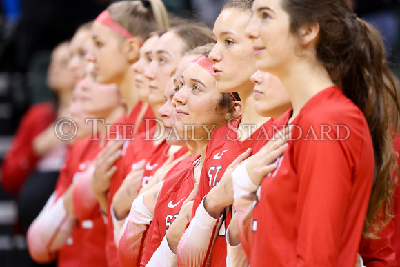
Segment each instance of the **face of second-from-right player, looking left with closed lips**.
[[217,43],[208,56],[214,62],[214,78],[220,92],[251,92],[250,76],[256,71],[252,42],[244,30],[250,12],[228,8],[221,12],[214,25]]

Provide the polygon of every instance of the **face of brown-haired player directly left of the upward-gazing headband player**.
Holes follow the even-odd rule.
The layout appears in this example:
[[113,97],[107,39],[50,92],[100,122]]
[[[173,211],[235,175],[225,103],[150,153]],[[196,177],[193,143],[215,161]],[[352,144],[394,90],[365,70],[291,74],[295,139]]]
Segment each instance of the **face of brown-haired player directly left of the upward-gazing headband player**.
[[158,39],[152,49],[152,61],[145,71],[150,80],[150,97],[153,90],[160,90],[163,95],[172,71],[183,57],[185,46],[181,37],[174,32],[166,32]]

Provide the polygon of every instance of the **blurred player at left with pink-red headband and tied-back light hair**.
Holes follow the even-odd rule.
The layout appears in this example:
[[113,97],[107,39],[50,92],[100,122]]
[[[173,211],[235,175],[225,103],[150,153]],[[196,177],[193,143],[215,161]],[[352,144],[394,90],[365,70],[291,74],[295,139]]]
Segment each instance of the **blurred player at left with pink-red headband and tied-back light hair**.
[[[114,123],[117,132],[132,139],[137,132],[143,132],[146,123],[143,118],[153,118],[154,112],[147,103],[142,103],[135,90],[132,64],[139,58],[139,48],[150,32],[168,27],[166,10],[161,1],[122,1],[114,3],[101,13],[92,26],[94,48],[88,53],[88,60],[95,65],[95,75],[99,83],[116,83],[128,109],[127,115]],[[74,188],[74,212],[81,221],[88,219],[97,201],[108,215],[106,255],[109,266],[118,266],[116,249],[112,237],[112,217],[108,210],[114,193],[121,181],[110,179],[117,168],[114,163],[121,157],[122,143],[110,141],[99,152],[92,169],[92,175],[81,179]],[[118,162],[118,161],[117,161]],[[111,183],[112,184],[112,183]],[[90,192],[92,188],[93,193]],[[111,190],[110,190],[111,189]],[[82,205],[84,203],[84,205]]]

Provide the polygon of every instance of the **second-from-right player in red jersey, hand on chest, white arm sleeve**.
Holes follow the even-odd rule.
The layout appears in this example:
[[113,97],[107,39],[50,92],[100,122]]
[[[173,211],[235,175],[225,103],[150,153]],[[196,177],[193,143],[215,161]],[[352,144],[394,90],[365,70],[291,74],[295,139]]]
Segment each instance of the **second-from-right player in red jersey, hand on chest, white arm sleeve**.
[[[194,199],[194,219],[178,246],[179,265],[225,265],[225,235],[232,218],[233,198],[232,190],[225,190],[226,186],[231,188],[230,179],[221,178],[239,155],[246,152],[248,157],[272,137],[273,120],[257,115],[254,110],[254,85],[250,77],[256,71],[255,58],[252,43],[244,33],[251,17],[251,4],[250,1],[230,1],[215,21],[213,32],[217,44],[209,57],[214,62],[217,89],[220,92],[237,91],[242,101],[242,117],[215,130],[207,146],[199,192]],[[271,108],[281,112],[290,108],[289,99],[273,104]]]

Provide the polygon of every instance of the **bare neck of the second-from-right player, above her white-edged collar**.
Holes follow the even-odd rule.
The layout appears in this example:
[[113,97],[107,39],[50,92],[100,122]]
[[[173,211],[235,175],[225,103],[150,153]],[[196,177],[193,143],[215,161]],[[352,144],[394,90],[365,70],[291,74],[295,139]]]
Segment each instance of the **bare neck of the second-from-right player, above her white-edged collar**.
[[[250,90],[251,89],[251,90]],[[241,122],[239,126],[239,131],[241,131],[241,141],[247,139],[252,133],[257,130],[260,126],[262,126],[266,121],[270,119],[270,117],[262,117],[257,114],[254,108],[254,97],[252,88],[247,88],[247,90],[243,90],[239,94],[241,99]],[[256,127],[246,127],[243,128],[243,125],[255,125]]]

